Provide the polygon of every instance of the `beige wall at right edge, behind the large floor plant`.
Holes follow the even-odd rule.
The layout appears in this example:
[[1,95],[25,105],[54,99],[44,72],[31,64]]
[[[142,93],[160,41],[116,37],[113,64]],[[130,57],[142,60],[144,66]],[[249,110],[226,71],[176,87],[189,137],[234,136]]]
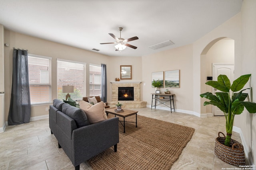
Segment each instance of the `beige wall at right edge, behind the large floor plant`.
[[[239,63],[241,70],[236,72],[237,76],[242,74],[252,74],[250,84],[252,92],[250,98],[256,102],[256,1],[244,0],[242,4],[242,55]],[[256,114],[250,114],[244,111],[241,115],[236,115],[234,125],[240,127],[246,146],[250,150],[248,156],[250,160],[256,163]],[[254,145],[252,146],[252,141]],[[254,148],[254,151],[252,151]]]

